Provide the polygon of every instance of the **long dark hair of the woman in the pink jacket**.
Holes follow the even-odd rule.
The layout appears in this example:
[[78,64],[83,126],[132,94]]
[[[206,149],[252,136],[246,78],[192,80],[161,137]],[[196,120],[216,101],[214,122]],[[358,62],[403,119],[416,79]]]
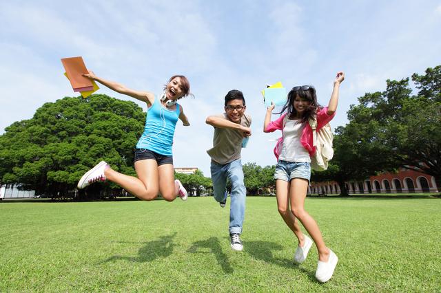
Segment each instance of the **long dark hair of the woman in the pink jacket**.
[[322,108],[322,106],[318,104],[316,89],[311,85],[308,89],[302,89],[302,87],[293,87],[288,93],[287,102],[283,106],[282,110],[276,114],[281,114],[286,111],[287,118],[295,119],[297,117],[297,111],[294,108],[294,100],[296,99],[297,95],[302,100],[307,100],[309,102],[309,106],[303,112],[302,117],[300,118],[300,122],[303,124],[308,122],[309,118],[316,118],[317,109]]

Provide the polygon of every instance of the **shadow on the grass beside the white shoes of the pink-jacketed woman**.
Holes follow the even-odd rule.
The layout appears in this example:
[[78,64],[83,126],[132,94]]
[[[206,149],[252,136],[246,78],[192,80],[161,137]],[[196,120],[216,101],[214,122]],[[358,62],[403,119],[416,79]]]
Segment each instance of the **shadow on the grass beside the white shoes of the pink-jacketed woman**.
[[291,259],[278,259],[274,257],[274,251],[283,250],[283,246],[280,244],[269,241],[247,241],[244,244],[247,248],[245,252],[247,252],[252,258],[265,261],[265,263],[280,265],[283,268],[300,270],[306,273],[309,276],[309,279],[316,281],[315,272],[305,270],[305,268],[302,268],[302,266],[296,265]]

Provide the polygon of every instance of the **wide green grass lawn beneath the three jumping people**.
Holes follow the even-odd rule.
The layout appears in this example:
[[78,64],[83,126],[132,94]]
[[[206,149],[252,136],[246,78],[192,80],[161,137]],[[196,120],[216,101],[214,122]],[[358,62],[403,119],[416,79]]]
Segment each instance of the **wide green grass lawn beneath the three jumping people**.
[[[229,199],[228,199],[229,200]],[[441,200],[308,198],[339,262],[316,281],[300,266],[275,197],[247,197],[244,251],[229,208],[187,202],[0,203],[0,292],[429,291],[441,288]]]

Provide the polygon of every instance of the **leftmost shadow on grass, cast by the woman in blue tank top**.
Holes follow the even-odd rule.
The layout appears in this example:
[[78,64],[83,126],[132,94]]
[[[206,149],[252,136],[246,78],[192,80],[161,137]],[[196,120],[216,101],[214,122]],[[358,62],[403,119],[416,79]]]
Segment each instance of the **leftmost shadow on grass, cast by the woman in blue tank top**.
[[[176,236],[176,232],[173,235],[169,236],[161,236],[158,240],[141,242],[145,243],[145,246],[142,246],[138,250],[138,256],[136,257],[123,257],[121,255],[114,255],[108,259],[105,259],[103,263],[109,261],[136,261],[139,263],[143,263],[146,261],[153,261],[159,257],[168,257],[173,252],[173,238]],[[119,243],[134,243],[134,242],[119,242]]]

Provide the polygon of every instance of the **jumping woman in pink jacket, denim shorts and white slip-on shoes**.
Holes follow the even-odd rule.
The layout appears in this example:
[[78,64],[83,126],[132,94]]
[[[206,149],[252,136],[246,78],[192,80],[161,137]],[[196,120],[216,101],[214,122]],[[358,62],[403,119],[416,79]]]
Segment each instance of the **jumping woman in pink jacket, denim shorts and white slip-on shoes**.
[[[276,180],[277,206],[287,226],[298,239],[294,262],[305,261],[312,241],[318,250],[316,279],[326,282],[331,279],[338,257],[327,248],[316,221],[305,210],[309,178],[311,177],[311,155],[316,152],[312,143],[312,129],[309,118],[316,118],[317,131],[335,116],[338,104],[340,83],[345,74],[338,72],[334,80],[334,89],[328,107],[320,107],[316,89],[311,85],[293,87],[289,91],[287,102],[280,113],[280,118],[271,121],[274,105],[268,107],[263,126],[264,132],[277,129],[283,132],[283,142],[278,150],[278,162],[274,179]],[[312,240],[302,233],[296,218],[302,223]]]

